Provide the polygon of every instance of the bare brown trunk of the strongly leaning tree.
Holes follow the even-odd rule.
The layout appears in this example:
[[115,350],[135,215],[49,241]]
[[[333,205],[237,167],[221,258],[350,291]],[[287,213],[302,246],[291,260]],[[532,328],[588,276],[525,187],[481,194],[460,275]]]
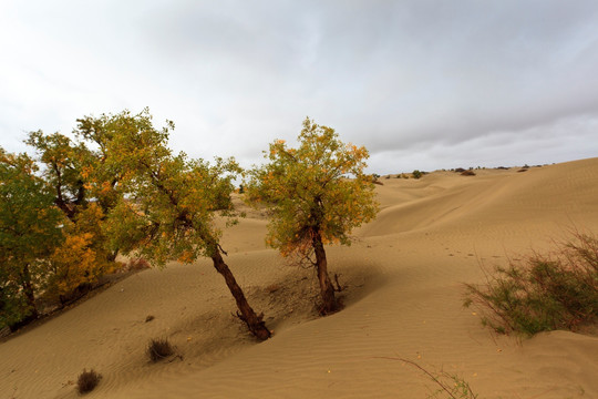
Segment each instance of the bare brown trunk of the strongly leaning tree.
[[212,260],[214,262],[214,267],[216,270],[225,278],[230,294],[233,294],[235,300],[237,301],[237,308],[240,311],[237,311],[237,316],[245,321],[249,328],[249,331],[251,331],[251,334],[255,335],[259,340],[270,338],[271,332],[268,328],[266,328],[266,324],[262,320],[264,314],[260,314],[259,316],[256,315],[254,309],[249,306],[243,289],[237,284],[237,280],[235,279],[235,276],[233,276],[228,265],[224,262],[218,248],[214,249]]

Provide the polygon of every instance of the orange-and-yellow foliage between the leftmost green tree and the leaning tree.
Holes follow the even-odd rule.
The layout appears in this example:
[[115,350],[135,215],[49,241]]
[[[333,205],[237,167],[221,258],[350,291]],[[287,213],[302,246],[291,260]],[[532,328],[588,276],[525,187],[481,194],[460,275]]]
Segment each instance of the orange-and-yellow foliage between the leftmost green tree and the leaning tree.
[[118,266],[114,262],[118,247],[107,246],[103,225],[120,195],[115,190],[120,171],[103,167],[102,149],[111,135],[97,132],[106,130],[103,120],[92,131],[87,123],[91,120],[79,120],[75,141],[42,131],[31,132],[27,140],[39,154],[42,177],[53,193],[54,204],[68,217],[62,245],[49,257],[38,259],[45,264],[41,273],[45,297],[60,299],[61,304]]

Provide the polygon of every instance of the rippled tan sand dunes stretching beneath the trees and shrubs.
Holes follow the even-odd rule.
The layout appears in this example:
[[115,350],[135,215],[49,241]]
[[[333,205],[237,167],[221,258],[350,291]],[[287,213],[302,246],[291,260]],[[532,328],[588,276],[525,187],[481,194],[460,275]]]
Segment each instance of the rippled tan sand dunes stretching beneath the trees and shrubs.
[[[209,262],[171,265],[0,344],[0,399],[75,398],[72,381],[91,367],[104,377],[89,398],[425,398],[430,380],[393,357],[460,375],[481,398],[598,398],[597,337],[497,337],[461,306],[481,264],[547,248],[573,226],[598,232],[598,158],[382,182],[377,221],[329,249],[349,286],[343,311],[313,315],[312,272],[266,249],[265,217],[251,212],[223,245],[272,339],[256,344],[231,316]],[[147,362],[159,336],[182,359]]]

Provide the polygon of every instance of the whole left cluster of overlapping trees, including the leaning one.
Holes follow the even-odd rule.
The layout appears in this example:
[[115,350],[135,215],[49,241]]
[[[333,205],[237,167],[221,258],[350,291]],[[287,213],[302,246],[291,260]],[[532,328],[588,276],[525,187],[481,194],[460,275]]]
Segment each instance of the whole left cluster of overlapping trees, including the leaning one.
[[174,155],[172,122],[154,129],[148,110],[78,120],[75,140],[29,134],[39,155],[0,152],[0,328],[38,318],[40,299],[64,305],[123,265],[118,254],[164,265],[214,260],[259,339],[270,331],[223,259],[216,213],[230,217],[234,160]]

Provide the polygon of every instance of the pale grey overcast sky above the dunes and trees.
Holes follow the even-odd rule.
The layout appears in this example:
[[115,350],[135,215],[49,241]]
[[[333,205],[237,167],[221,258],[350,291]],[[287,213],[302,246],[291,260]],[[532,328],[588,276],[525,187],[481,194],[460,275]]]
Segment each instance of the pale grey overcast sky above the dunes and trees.
[[596,0],[0,0],[0,60],[12,152],[148,106],[244,166],[307,115],[380,174],[598,156]]

